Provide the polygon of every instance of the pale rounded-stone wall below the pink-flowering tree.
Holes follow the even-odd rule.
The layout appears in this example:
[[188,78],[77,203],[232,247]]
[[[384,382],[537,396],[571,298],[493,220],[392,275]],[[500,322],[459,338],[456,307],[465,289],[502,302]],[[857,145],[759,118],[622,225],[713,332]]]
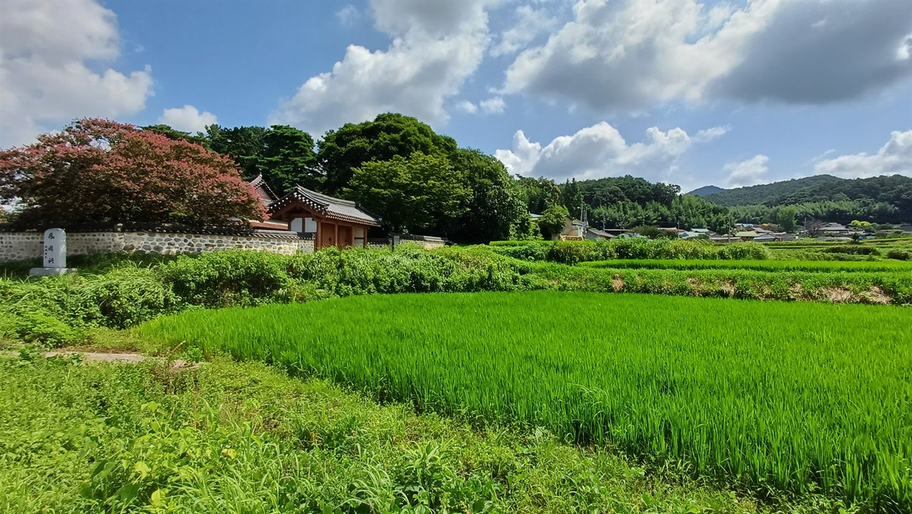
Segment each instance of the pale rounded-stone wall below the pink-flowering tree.
[[[43,231],[0,231],[0,262],[39,258]],[[199,253],[244,249],[292,254],[314,252],[312,237],[289,231],[191,233],[187,231],[67,231],[67,255],[88,253]]]

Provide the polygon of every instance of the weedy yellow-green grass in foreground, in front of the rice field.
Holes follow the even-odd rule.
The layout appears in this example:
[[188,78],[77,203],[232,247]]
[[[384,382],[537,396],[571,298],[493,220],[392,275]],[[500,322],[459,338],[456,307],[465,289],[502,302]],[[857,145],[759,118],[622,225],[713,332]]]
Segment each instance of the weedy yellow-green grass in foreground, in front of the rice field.
[[3,512],[857,511],[820,496],[760,503],[686,475],[257,363],[0,358]]

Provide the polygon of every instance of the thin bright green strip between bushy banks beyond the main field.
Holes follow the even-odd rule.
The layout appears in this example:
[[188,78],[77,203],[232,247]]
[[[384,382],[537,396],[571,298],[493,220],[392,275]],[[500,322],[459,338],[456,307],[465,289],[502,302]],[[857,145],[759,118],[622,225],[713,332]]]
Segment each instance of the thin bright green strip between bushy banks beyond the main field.
[[709,261],[627,259],[580,262],[593,268],[644,270],[756,270],[762,272],[912,272],[907,261]]

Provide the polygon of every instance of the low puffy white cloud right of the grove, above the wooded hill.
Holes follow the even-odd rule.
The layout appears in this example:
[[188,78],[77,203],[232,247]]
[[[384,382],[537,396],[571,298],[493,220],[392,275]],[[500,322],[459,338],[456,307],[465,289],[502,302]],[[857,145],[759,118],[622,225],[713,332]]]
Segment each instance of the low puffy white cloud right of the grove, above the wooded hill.
[[[667,132],[648,128],[646,139],[627,144],[617,128],[605,121],[582,128],[572,136],[561,136],[542,146],[526,138],[523,130],[513,136],[513,149],[498,149],[494,156],[511,173],[554,180],[577,180],[619,176],[627,173],[648,180],[668,180],[674,163],[694,143],[724,131],[701,130],[702,138],[690,137],[681,128]],[[711,138],[710,138],[711,139]]]

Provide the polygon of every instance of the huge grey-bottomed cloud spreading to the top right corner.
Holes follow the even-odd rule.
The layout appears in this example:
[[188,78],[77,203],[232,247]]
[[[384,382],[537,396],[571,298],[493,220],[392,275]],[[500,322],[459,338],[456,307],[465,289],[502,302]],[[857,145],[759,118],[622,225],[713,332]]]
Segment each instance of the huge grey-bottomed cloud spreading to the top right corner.
[[506,72],[504,93],[598,109],[724,96],[826,103],[912,75],[912,3],[581,0]]

